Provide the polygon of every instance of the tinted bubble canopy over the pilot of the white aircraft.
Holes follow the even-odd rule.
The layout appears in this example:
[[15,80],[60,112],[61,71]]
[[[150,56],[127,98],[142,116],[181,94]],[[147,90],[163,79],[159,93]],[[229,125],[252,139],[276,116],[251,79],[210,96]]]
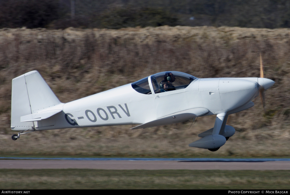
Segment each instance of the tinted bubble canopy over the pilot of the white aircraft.
[[170,91],[184,89],[195,79],[197,78],[186,73],[166,71],[133,82],[132,87],[143,94],[166,93],[166,86],[170,86]]

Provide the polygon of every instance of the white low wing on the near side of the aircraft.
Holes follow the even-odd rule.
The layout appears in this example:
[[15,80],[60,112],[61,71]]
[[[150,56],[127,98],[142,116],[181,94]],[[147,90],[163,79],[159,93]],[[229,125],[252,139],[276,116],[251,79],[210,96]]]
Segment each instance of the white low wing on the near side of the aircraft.
[[160,126],[160,125],[183,122],[186,120],[190,120],[192,118],[196,118],[196,117],[205,115],[208,112],[209,112],[209,110],[206,108],[192,108],[192,109],[176,112],[176,113],[164,116],[162,118],[158,118],[156,120],[146,122],[144,124],[140,124],[140,125],[133,127],[131,129],[141,129],[141,128],[155,127],[155,126]]

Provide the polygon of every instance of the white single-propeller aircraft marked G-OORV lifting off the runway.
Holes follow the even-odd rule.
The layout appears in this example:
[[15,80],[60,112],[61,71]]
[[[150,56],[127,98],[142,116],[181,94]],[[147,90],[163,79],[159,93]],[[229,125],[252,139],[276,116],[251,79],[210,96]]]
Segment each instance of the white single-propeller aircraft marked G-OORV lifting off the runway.
[[[262,72],[261,72],[262,75]],[[263,76],[261,76],[263,77]],[[233,136],[229,114],[254,106],[252,100],[275,82],[266,78],[204,78],[170,71],[61,103],[37,71],[12,80],[12,136],[75,127],[138,124],[132,129],[217,115],[213,128],[200,133],[190,147],[218,150]]]

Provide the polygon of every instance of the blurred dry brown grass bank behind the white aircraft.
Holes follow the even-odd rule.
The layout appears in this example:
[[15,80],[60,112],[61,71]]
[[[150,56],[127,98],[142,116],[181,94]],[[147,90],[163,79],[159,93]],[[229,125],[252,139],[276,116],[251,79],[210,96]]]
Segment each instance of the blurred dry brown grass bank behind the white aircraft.
[[12,141],[11,80],[38,70],[65,103],[167,70],[199,78],[259,77],[261,53],[265,77],[276,82],[265,94],[265,111],[256,98],[253,108],[231,115],[227,124],[236,134],[215,154],[289,156],[289,35],[289,29],[238,27],[1,29],[1,154],[213,155],[188,144],[213,127],[214,117],[199,118],[184,131],[176,131],[183,124],[144,130],[129,130],[131,126],[62,129]]

